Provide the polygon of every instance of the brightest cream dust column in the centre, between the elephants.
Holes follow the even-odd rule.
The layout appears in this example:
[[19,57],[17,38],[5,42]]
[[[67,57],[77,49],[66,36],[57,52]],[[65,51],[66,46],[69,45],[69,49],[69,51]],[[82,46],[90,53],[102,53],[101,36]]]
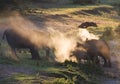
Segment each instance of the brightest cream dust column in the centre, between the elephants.
[[72,37],[67,37],[64,33],[52,30],[52,44],[55,48],[56,60],[58,62],[64,62],[65,60],[72,60],[70,58],[70,52],[74,50],[76,46],[76,39]]

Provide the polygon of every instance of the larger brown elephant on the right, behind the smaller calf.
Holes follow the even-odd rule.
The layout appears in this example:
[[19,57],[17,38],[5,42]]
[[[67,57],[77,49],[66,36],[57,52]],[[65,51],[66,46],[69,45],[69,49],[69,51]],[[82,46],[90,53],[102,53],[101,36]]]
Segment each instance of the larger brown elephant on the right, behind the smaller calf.
[[91,60],[99,62],[99,57],[104,59],[104,65],[111,67],[110,61],[110,48],[108,44],[103,40],[87,40],[84,44],[87,53],[89,54]]

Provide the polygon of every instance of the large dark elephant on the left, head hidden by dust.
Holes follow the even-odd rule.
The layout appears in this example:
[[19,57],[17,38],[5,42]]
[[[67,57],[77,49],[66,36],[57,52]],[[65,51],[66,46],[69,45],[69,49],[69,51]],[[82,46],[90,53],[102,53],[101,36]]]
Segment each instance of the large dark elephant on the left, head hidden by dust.
[[[16,55],[16,49],[20,49],[20,48],[29,49],[32,55],[32,59],[40,59],[40,56],[38,53],[38,46],[36,46],[33,42],[31,42],[30,38],[24,37],[22,33],[18,33],[16,32],[15,29],[12,29],[12,28],[5,30],[3,34],[3,39],[5,36],[6,36],[8,45],[11,47],[13,59],[19,60]],[[46,49],[46,55],[49,55],[49,48],[48,47],[44,47],[44,48]]]

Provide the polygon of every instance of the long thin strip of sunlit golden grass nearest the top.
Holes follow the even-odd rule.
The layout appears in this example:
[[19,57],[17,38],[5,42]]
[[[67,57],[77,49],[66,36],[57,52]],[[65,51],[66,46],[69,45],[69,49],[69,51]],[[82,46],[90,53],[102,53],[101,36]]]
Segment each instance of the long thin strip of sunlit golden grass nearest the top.
[[42,14],[71,14],[75,11],[80,11],[80,10],[92,10],[94,8],[99,8],[99,7],[106,7],[106,8],[111,8],[112,6],[109,5],[86,5],[86,6],[81,6],[81,5],[62,5],[59,8],[31,8],[28,6],[29,9],[36,11],[36,13],[42,13]]

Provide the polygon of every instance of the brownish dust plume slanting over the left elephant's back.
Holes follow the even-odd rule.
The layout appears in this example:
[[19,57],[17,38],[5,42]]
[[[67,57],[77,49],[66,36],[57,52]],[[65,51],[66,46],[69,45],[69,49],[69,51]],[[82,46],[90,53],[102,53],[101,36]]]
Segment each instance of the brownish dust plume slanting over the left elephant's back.
[[28,39],[37,47],[50,46],[49,32],[38,29],[36,25],[18,13],[10,16],[8,20],[12,30],[22,38]]

